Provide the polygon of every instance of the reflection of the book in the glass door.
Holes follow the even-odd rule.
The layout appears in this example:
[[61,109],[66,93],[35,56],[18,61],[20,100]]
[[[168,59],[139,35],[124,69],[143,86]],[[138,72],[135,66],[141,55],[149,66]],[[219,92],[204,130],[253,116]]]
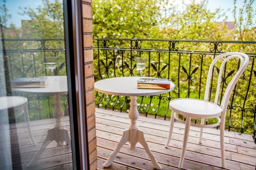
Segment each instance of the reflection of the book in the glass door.
[[11,81],[11,86],[13,88],[46,87],[48,84],[48,77],[16,78],[15,80]]

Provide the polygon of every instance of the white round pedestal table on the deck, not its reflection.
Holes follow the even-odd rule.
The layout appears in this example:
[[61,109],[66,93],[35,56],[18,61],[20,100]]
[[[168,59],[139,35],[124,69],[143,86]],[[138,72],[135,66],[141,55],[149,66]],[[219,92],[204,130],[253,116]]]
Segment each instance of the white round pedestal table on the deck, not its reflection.
[[158,164],[155,156],[148,148],[148,144],[144,138],[143,131],[138,129],[138,125],[136,123],[136,120],[139,118],[139,111],[137,109],[137,96],[167,93],[174,89],[175,84],[173,82],[170,82],[171,88],[167,90],[138,89],[137,80],[139,80],[139,77],[118,77],[103,79],[95,82],[94,84],[95,90],[105,94],[131,96],[129,110],[129,118],[131,119],[131,124],[129,126],[129,129],[123,131],[122,138],[118,142],[116,149],[111,153],[109,159],[103,164],[104,167],[108,167],[112,164],[119,150],[122,148],[122,145],[129,141],[130,147],[132,149],[136,148],[137,142],[141,143],[146,153],[150,157],[153,166],[156,169],[162,169],[162,167]]

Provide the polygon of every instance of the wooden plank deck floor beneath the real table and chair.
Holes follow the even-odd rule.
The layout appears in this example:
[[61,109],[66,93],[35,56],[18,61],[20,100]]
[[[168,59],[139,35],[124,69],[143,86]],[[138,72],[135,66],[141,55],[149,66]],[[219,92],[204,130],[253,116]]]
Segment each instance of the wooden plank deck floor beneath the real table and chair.
[[[98,168],[102,169],[102,164],[121,138],[122,131],[129,127],[130,119],[125,113],[103,109],[96,109],[96,112]],[[175,123],[169,148],[165,149],[169,121],[140,116],[137,122],[163,169],[178,169],[184,125]],[[199,128],[191,127],[183,168],[221,169],[219,133],[220,131],[216,129],[205,129],[203,142],[199,144]],[[226,132],[225,136],[226,168],[255,169],[256,144],[252,136],[234,132]],[[129,143],[126,143],[114,164],[106,169],[154,169],[154,167],[140,144],[136,150],[131,150]]]

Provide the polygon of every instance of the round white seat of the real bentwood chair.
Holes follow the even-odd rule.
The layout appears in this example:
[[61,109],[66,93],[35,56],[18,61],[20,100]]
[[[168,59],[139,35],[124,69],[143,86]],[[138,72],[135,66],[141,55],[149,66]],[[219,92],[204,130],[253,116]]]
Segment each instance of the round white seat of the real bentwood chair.
[[197,99],[176,99],[169,107],[178,114],[195,118],[215,118],[222,113],[219,105]]

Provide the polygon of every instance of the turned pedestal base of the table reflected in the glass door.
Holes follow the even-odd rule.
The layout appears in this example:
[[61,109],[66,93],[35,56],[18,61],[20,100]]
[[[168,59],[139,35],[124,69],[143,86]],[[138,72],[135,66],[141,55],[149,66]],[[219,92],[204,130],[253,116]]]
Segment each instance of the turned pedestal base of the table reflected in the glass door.
[[52,141],[57,142],[57,147],[62,147],[64,141],[66,142],[66,144],[71,146],[71,139],[69,137],[68,130],[63,126],[63,115],[63,110],[61,108],[61,95],[57,94],[55,95],[53,109],[53,116],[56,119],[55,126],[54,128],[48,130],[46,139],[44,140],[44,142],[42,142],[40,150],[37,151],[31,162],[27,164],[27,167],[36,165],[41,154],[45,151],[48,144],[50,144]]

